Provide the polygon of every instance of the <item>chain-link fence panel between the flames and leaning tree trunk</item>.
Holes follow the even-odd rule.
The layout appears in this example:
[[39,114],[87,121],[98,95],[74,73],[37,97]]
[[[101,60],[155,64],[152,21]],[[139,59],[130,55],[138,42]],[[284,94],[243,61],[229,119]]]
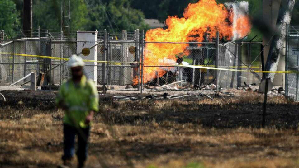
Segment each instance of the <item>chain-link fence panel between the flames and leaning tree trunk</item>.
[[[218,87],[237,88],[244,85],[258,85],[262,74],[261,51],[259,42],[227,42],[219,45],[218,67],[237,71],[218,71]],[[239,70],[239,71],[238,71]],[[251,72],[242,72],[250,70]]]

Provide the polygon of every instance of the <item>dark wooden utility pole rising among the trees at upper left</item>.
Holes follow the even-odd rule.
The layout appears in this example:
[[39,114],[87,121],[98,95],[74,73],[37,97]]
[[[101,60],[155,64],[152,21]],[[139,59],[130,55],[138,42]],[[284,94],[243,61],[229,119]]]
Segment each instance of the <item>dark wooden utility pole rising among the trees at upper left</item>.
[[31,37],[32,32],[32,0],[23,0],[23,30],[26,37]]

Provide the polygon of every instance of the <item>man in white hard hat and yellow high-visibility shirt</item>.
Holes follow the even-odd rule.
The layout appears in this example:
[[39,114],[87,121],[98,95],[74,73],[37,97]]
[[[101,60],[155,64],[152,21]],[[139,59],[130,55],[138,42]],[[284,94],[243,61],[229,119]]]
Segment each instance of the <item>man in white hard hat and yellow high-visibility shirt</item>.
[[70,166],[74,155],[75,135],[78,136],[78,167],[83,167],[87,158],[88,136],[93,114],[98,111],[98,94],[94,81],[83,75],[84,62],[81,57],[72,55],[69,67],[72,78],[59,89],[56,103],[65,110],[64,115],[64,165]]

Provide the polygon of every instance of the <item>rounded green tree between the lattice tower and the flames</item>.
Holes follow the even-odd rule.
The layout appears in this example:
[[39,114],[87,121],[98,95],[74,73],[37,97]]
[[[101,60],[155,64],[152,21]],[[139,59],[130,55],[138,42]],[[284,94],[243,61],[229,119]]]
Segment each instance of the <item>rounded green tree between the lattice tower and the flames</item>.
[[129,0],[88,0],[87,30],[107,29],[110,32],[121,30],[148,29],[144,14],[130,6]]

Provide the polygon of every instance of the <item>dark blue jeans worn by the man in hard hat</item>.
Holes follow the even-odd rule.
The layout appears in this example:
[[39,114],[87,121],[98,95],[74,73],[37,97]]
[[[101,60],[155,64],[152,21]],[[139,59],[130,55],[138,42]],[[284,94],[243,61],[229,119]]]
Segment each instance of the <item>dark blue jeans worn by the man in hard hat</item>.
[[78,157],[79,165],[83,165],[84,161],[87,159],[89,127],[75,128],[70,125],[64,124],[63,133],[64,155],[62,156],[62,160],[71,160],[73,158],[75,152],[75,135],[77,135],[78,150],[76,154]]

